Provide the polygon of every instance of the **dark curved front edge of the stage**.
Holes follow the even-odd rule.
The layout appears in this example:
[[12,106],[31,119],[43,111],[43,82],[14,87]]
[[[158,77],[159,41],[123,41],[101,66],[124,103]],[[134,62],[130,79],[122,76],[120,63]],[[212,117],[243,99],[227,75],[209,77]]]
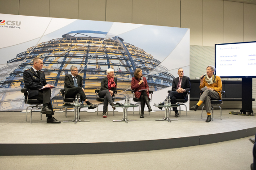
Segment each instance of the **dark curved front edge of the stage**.
[[212,144],[255,135],[256,127],[232,132],[172,139],[102,143],[0,144],[0,155],[77,155],[125,153]]

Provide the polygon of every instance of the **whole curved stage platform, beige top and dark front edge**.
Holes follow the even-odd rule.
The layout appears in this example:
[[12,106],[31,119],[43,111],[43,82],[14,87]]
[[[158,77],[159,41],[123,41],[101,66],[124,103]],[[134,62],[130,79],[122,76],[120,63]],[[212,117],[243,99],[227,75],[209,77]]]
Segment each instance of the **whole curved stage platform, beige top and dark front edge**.
[[[156,111],[145,118],[138,112],[128,119],[137,122],[112,122],[122,119],[122,112],[109,112],[107,118],[102,113],[81,112],[81,120],[90,122],[46,123],[40,120],[40,112],[33,112],[32,123],[25,121],[26,113],[0,112],[0,155],[68,155],[148,151],[210,144],[253,136],[256,133],[256,116],[231,115],[231,111],[214,110],[214,121],[206,123],[207,114],[203,110],[181,111],[177,121],[155,121],[162,119],[164,111]],[[30,120],[30,114],[28,114]],[[74,119],[73,112],[56,112],[57,120]]]

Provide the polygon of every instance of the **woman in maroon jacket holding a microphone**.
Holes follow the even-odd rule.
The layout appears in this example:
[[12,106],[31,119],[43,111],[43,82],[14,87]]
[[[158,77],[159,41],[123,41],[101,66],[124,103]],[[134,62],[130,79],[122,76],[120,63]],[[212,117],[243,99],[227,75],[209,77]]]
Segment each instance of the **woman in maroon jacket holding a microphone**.
[[[142,70],[141,68],[137,68],[134,72],[134,77],[132,77],[132,90],[135,92],[135,97],[141,99],[141,118],[144,118],[144,107],[145,103],[148,106],[149,111],[152,111],[150,104],[149,104],[149,86],[147,83],[146,77],[142,77]],[[142,90],[141,89],[147,89]]]

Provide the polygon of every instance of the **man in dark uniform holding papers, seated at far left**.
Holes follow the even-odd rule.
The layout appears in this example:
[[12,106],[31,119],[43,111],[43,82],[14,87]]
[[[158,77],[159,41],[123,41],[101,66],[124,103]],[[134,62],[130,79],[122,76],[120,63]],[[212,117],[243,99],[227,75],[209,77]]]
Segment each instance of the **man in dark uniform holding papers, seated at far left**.
[[[42,89],[45,87],[53,87],[52,85],[47,84],[45,81],[44,72],[41,71],[43,65],[43,59],[39,57],[35,57],[33,59],[33,67],[25,70],[23,73],[25,84],[24,88],[28,89],[29,99],[35,98],[43,101],[44,108],[41,110],[41,113],[46,114],[47,123],[61,123],[52,116],[54,113],[51,104],[51,89]],[[25,97],[27,98],[27,96]]]

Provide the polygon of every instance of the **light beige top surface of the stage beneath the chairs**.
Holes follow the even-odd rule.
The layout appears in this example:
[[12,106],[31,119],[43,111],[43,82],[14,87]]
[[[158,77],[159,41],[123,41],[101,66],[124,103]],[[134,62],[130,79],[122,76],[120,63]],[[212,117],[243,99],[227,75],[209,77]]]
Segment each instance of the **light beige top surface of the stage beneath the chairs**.
[[[25,122],[25,113],[21,112],[0,112],[0,143],[89,143],[89,142],[116,142],[135,140],[156,140],[170,139],[186,136],[199,136],[230,132],[241,129],[256,127],[256,116],[230,115],[230,111],[223,110],[222,120],[220,110],[214,111],[214,121],[205,123],[201,119],[200,110],[194,112],[181,112],[178,121],[155,121],[163,118],[163,111],[153,112],[150,115],[145,113],[145,118],[139,118],[138,112],[132,115],[128,112],[128,119],[137,119],[137,122],[112,122],[122,119],[121,112],[109,112],[107,118],[102,114],[82,112],[81,119],[90,120],[89,123],[78,122],[48,124],[46,117],[40,120],[40,112],[33,112],[32,122]],[[206,113],[204,110],[204,118]],[[74,119],[72,112],[68,117],[64,113],[55,113],[58,120]],[[28,117],[28,119],[30,116]],[[174,114],[172,111],[172,119]],[[49,133],[51,132],[51,133]]]

